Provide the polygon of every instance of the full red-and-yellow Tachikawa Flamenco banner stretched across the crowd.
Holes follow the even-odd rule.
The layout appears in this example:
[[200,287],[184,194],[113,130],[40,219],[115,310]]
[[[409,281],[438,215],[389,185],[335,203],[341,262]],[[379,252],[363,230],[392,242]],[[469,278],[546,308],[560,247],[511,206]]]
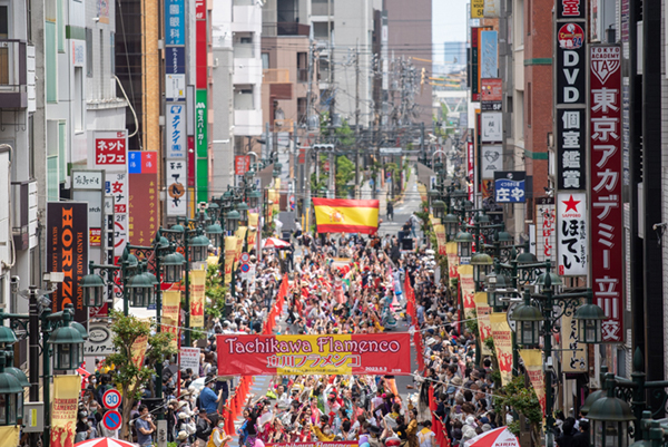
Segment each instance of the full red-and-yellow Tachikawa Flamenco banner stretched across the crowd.
[[407,332],[218,336],[218,375],[410,375],[410,343]]

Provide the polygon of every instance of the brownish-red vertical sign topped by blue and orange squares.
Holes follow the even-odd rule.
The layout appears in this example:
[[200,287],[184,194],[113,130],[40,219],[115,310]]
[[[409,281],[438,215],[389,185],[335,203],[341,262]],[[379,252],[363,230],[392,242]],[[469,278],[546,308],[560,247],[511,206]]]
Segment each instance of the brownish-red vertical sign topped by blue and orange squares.
[[129,153],[129,241],[150,245],[159,227],[158,153]]

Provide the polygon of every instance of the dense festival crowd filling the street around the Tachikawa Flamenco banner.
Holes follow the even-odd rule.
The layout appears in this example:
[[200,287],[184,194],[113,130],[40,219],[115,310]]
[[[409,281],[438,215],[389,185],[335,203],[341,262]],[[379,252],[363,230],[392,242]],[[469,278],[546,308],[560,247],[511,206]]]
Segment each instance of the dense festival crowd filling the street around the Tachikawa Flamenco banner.
[[[273,318],[282,269],[278,256],[265,251],[262,261],[252,260],[258,266],[255,288],[239,280],[230,313],[212,325],[199,370],[181,371],[178,385],[176,375],[163,377],[168,440],[178,447],[220,447],[237,438],[247,447],[338,440],[361,447],[445,447],[464,446],[511,422],[511,416],[493,409],[492,362],[483,358],[474,365],[475,334],[461,321],[450,289],[434,276],[434,252],[402,251],[400,242],[377,235],[310,239],[296,251],[287,305],[275,331],[380,333],[399,330],[403,320],[401,330],[410,328],[415,348],[422,349],[420,368],[404,389],[392,376],[276,376],[266,393],[245,399],[242,420],[230,433],[226,402],[238,382],[217,373],[216,334],[262,333]],[[415,312],[406,311],[406,288],[414,291]],[[100,392],[110,386],[101,372],[82,400],[81,438],[117,436],[99,425]],[[134,440],[143,447],[155,434],[151,412],[146,405],[132,409]],[[564,427],[577,429],[570,421]]]

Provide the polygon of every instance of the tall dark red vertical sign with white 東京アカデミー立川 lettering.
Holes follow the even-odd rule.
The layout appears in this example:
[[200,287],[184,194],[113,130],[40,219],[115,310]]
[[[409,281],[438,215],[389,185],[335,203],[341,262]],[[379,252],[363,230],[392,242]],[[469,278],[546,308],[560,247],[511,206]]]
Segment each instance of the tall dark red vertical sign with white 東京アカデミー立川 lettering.
[[621,48],[590,51],[591,286],[606,312],[603,342],[623,342],[621,208]]

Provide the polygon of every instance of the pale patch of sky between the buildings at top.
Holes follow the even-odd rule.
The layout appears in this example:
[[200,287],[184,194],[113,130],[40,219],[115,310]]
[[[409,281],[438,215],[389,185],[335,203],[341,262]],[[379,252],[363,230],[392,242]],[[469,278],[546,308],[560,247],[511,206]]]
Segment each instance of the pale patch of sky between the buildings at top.
[[466,40],[468,0],[432,0],[434,62],[443,60],[443,43]]

